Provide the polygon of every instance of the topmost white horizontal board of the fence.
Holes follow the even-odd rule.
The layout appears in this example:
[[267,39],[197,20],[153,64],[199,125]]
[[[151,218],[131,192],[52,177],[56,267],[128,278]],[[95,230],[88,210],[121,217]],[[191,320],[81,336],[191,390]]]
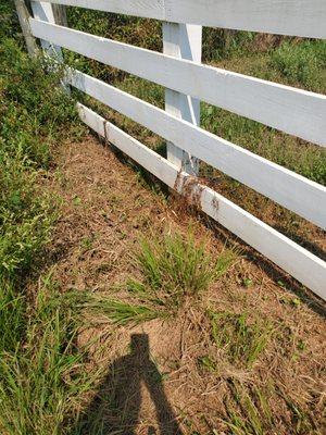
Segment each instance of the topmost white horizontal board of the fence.
[[310,38],[326,38],[325,0],[46,1],[175,23],[199,24],[210,27]]

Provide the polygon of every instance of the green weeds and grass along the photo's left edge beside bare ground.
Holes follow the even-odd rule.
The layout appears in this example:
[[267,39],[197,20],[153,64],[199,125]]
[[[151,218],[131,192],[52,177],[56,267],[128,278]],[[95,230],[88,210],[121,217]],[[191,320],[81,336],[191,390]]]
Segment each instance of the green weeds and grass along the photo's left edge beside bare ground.
[[80,369],[73,308],[53,290],[27,296],[26,282],[43,263],[58,213],[41,186],[51,148],[79,125],[62,72],[27,57],[11,2],[0,13],[0,432],[61,434],[92,377]]

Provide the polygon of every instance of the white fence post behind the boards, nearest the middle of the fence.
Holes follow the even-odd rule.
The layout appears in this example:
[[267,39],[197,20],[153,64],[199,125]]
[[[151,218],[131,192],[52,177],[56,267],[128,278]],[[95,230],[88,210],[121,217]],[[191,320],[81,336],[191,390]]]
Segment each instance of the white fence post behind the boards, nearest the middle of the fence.
[[[163,52],[201,63],[202,26],[192,24],[163,24]],[[165,89],[165,110],[195,125],[200,125],[200,101],[172,89]],[[198,175],[199,160],[167,142],[167,160],[188,174]]]

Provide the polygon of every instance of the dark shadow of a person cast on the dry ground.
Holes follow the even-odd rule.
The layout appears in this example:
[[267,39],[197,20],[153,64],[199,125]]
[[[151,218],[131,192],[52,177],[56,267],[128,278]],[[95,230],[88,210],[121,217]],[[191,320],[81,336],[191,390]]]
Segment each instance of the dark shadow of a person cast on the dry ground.
[[[104,382],[79,418],[72,435],[135,435],[141,406],[141,382],[155,406],[161,435],[183,435],[168,403],[161,374],[150,359],[147,334],[131,335],[130,353],[114,361]],[[156,434],[153,425],[148,435]]]

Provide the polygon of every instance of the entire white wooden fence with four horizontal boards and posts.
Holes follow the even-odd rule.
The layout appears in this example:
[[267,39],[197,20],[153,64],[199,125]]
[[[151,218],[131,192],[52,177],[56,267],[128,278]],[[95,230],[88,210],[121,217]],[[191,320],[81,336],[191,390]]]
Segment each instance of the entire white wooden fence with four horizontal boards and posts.
[[[58,25],[51,3],[161,20],[164,53]],[[164,137],[167,160],[78,104],[89,127],[181,195],[191,191],[205,213],[326,300],[322,259],[192,176],[202,160],[326,229],[324,186],[199,126],[202,100],[325,147],[325,96],[201,63],[202,25],[326,38],[325,0],[46,0],[32,7],[32,33],[51,55],[61,57],[63,47],[166,88],[164,111],[79,71],[67,74],[70,85]]]

